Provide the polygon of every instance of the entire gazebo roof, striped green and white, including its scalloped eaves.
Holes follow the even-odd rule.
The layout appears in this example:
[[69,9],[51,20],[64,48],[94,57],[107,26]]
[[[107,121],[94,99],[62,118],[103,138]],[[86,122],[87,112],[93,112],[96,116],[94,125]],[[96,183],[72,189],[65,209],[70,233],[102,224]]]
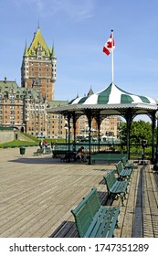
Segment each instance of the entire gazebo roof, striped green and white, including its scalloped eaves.
[[77,97],[62,105],[47,109],[47,112],[67,114],[75,112],[84,114],[87,110],[100,115],[122,115],[132,109],[134,115],[149,114],[157,111],[157,104],[148,96],[140,96],[121,90],[114,83],[100,92],[88,94],[86,97]]

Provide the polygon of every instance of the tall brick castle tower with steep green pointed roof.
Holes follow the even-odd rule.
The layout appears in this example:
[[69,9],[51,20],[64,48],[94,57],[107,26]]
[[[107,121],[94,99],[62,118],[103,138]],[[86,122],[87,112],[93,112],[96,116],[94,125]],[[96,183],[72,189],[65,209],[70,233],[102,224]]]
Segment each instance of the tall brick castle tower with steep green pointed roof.
[[56,65],[54,46],[47,47],[38,27],[30,47],[25,46],[21,67],[21,87],[35,88],[48,101],[54,100]]

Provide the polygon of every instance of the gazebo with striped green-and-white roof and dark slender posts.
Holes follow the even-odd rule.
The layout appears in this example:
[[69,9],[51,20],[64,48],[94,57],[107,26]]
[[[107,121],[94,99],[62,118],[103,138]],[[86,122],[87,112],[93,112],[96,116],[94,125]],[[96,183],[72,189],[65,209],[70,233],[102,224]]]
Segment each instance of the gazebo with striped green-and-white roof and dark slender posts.
[[[110,115],[120,115],[127,123],[127,155],[130,159],[130,128],[132,120],[139,114],[146,114],[152,121],[152,161],[154,157],[154,129],[155,129],[155,113],[157,112],[157,104],[152,98],[140,96],[121,90],[113,82],[104,90],[93,93],[90,96],[77,97],[69,101],[67,105],[56,108],[49,108],[47,112],[60,113],[68,119],[68,150],[70,143],[70,120],[73,121],[74,140],[76,134],[76,121],[81,115],[86,115],[89,123],[89,131],[91,131],[91,121],[93,118],[98,123],[98,136],[100,148],[100,123]],[[91,133],[89,133],[89,142]],[[89,144],[90,147],[90,144]],[[89,148],[90,150],[90,148]],[[90,164],[90,158],[89,158]]]

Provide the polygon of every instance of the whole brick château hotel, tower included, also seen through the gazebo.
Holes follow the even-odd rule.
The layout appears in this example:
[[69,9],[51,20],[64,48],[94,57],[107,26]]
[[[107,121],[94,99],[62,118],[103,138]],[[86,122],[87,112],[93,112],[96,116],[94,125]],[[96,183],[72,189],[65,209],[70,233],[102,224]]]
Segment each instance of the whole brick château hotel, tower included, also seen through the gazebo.
[[[34,34],[29,47],[24,49],[21,66],[21,87],[14,80],[0,80],[0,126],[15,127],[24,133],[48,138],[66,138],[64,116],[47,112],[47,108],[67,104],[55,101],[57,80],[55,48],[48,47],[40,28]],[[93,93],[90,89],[89,93]],[[89,94],[88,93],[88,94]],[[77,122],[76,135],[86,136],[87,118]],[[97,135],[97,123],[92,122],[93,135]],[[71,125],[71,133],[72,131]],[[117,134],[117,117],[106,118],[101,123],[101,133]],[[73,139],[73,138],[72,138]]]

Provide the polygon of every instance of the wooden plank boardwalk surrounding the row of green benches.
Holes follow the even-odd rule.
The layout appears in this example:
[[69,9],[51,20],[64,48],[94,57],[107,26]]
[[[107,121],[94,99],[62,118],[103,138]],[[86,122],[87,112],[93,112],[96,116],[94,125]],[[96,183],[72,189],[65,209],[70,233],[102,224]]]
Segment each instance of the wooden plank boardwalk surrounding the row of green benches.
[[[0,149],[0,237],[76,237],[70,209],[97,187],[107,200],[103,176],[114,165],[60,163],[51,155],[33,156],[37,148]],[[158,237],[158,172],[152,165],[136,166],[125,207],[121,207],[118,238]]]

